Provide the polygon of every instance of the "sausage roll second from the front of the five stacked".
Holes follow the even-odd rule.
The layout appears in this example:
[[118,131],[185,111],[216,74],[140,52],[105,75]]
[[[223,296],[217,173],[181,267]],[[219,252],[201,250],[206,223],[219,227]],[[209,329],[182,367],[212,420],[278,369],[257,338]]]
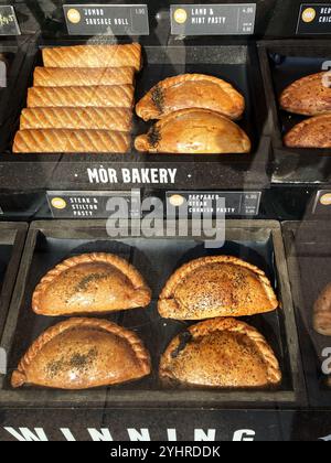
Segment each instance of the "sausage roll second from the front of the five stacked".
[[22,110],[20,129],[98,129],[130,132],[132,112],[126,108],[28,108]]

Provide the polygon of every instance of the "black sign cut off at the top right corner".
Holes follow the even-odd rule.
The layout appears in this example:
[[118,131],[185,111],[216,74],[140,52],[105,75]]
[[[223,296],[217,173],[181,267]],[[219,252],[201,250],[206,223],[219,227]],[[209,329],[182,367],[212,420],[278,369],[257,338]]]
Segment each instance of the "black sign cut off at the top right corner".
[[331,34],[330,2],[301,4],[297,34]]

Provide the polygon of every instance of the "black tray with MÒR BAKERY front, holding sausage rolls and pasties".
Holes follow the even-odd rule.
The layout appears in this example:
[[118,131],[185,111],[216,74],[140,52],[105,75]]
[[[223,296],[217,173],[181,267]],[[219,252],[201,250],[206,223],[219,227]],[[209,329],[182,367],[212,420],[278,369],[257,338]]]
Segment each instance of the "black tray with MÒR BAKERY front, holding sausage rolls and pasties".
[[[81,40],[40,41],[29,57],[25,75],[21,75],[24,91],[32,85],[35,65],[42,64],[41,47],[82,44]],[[8,127],[11,142],[0,157],[0,182],[3,189],[18,190],[22,182],[26,190],[122,190],[154,186],[158,189],[263,189],[269,184],[268,161],[270,143],[266,137],[267,105],[260,91],[263,79],[255,42],[222,42],[218,45],[185,45],[179,41],[172,46],[143,46],[145,66],[137,79],[137,99],[159,80],[182,73],[206,73],[223,77],[235,85],[246,97],[247,109],[239,125],[253,141],[252,154],[225,155],[148,155],[129,154],[11,154],[11,144],[19,128],[19,117],[24,103],[13,99],[15,120]],[[135,133],[145,132],[148,125],[136,119]],[[88,169],[116,169],[118,183],[94,183]],[[122,182],[121,169],[177,169],[174,184]]]

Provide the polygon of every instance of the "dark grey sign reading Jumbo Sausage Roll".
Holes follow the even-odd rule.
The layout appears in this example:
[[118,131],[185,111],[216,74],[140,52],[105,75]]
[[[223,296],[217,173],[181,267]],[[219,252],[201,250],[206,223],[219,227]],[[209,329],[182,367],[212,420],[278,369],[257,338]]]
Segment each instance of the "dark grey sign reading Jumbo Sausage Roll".
[[149,35],[147,4],[64,4],[70,35]]

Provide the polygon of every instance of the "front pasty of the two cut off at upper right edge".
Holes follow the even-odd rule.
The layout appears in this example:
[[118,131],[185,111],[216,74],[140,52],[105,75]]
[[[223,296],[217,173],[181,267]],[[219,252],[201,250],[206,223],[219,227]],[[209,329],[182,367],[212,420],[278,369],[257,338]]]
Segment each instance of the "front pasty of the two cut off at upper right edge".
[[331,148],[331,114],[298,123],[286,134],[284,142],[289,148]]

